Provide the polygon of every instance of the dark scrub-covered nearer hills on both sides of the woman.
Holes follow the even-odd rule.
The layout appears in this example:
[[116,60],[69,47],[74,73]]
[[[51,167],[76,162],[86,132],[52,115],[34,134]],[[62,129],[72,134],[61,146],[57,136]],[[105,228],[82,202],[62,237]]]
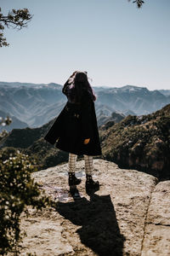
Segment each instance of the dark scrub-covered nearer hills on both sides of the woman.
[[[170,178],[170,104],[147,115],[124,117],[115,113],[111,118],[99,126],[102,157],[123,168]],[[68,153],[43,139],[53,122],[40,128],[14,129],[3,139],[1,148],[20,149],[35,158],[40,169],[67,162]]]

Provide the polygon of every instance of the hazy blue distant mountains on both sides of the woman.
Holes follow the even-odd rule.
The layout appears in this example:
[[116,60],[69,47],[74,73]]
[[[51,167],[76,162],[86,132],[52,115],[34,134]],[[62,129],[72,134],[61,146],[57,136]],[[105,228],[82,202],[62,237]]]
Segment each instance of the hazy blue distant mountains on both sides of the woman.
[[[0,82],[0,110],[15,116],[30,127],[39,127],[54,119],[64,107],[66,97],[60,84]],[[126,85],[120,88],[94,87],[97,118],[111,113],[147,114],[170,103],[168,90],[148,90]],[[20,127],[19,127],[20,128]]]

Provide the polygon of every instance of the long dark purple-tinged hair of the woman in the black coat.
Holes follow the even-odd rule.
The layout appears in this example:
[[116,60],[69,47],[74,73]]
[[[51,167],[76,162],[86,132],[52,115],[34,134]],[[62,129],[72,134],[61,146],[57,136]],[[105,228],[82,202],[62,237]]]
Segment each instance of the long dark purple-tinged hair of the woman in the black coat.
[[71,102],[81,102],[84,91],[88,91],[89,96],[93,101],[96,100],[94,90],[88,82],[88,76],[86,72],[75,72],[71,77],[71,85],[69,86],[69,97]]

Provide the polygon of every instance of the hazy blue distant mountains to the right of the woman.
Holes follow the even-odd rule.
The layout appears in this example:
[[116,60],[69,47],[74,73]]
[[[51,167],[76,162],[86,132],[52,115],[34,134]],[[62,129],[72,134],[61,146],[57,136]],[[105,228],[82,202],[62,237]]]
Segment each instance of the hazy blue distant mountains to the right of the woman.
[[109,105],[119,111],[129,109],[139,114],[152,113],[170,102],[170,96],[164,96],[159,90],[126,85],[98,91],[98,103]]

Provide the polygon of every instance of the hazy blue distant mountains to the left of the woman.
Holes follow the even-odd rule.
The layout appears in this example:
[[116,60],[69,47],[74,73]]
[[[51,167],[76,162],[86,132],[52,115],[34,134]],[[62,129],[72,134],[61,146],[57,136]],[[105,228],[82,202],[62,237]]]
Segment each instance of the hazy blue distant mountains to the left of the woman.
[[64,107],[61,88],[59,84],[0,83],[0,110],[31,127],[43,125]]

